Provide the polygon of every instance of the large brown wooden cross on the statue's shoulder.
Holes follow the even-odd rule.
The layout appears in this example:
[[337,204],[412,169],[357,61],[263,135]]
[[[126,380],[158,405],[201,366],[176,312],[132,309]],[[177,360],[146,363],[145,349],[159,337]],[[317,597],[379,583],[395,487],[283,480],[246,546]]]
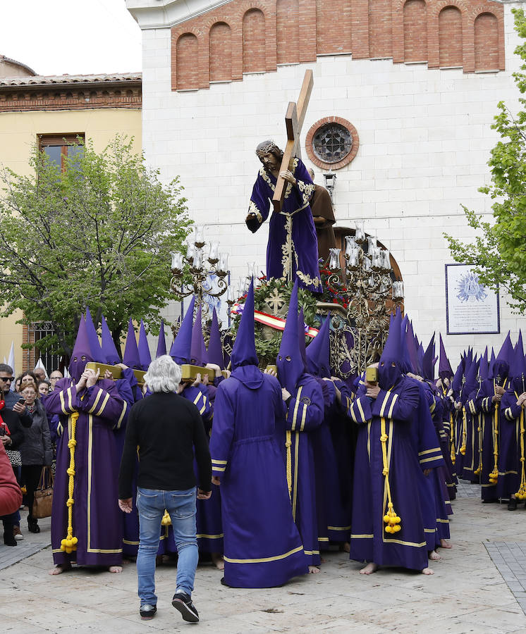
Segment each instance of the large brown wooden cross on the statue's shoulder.
[[[305,120],[305,114],[307,113],[307,106],[309,105],[313,84],[312,70],[305,70],[305,77],[303,77],[298,104],[295,104],[294,101],[290,101],[288,104],[287,113],[285,115],[287,144],[283,152],[283,159],[281,161],[281,167],[279,168],[280,172],[283,170],[292,171],[294,156],[298,156],[298,159],[301,158],[300,133],[303,121]],[[278,176],[278,182],[276,182],[276,189],[274,190],[274,197],[272,199],[276,213],[280,213],[281,211],[286,189],[287,181],[281,176]]]

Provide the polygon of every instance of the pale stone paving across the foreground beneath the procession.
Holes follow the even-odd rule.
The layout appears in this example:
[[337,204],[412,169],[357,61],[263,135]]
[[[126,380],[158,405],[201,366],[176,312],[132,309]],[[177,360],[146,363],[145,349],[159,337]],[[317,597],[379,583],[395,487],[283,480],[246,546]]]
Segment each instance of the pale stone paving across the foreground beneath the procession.
[[[441,550],[442,559],[433,564],[435,574],[429,577],[400,569],[382,569],[366,577],[358,574],[360,565],[345,553],[329,553],[318,575],[297,578],[283,588],[235,590],[221,586],[221,573],[212,566],[200,566],[193,594],[202,619],[199,630],[526,634],[525,613],[494,564],[499,554],[506,560],[506,546],[517,556],[519,550],[525,552],[526,510],[521,509],[511,513],[504,504],[483,505],[475,497],[456,499],[453,549]],[[44,522],[41,538],[49,535]],[[0,545],[0,557],[7,548]],[[121,575],[76,569],[51,577],[50,567],[47,548],[0,571],[3,633],[189,631],[171,607],[174,566],[157,569],[158,611],[148,622],[138,615],[134,564],[126,564]],[[515,574],[508,567],[520,580],[518,568]]]

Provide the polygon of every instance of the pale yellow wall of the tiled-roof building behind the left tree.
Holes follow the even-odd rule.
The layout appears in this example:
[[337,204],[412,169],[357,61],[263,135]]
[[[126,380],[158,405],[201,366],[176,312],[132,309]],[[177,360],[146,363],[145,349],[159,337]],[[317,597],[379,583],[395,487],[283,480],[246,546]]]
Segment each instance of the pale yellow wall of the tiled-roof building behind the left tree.
[[[92,108],[75,111],[34,111],[0,113],[0,167],[29,175],[29,157],[37,135],[69,135],[83,132],[95,151],[102,151],[116,134],[134,138],[135,151],[142,149],[141,111],[128,108]],[[22,372],[22,317],[17,311],[0,318],[0,363],[8,359],[11,342],[15,344],[15,373]]]

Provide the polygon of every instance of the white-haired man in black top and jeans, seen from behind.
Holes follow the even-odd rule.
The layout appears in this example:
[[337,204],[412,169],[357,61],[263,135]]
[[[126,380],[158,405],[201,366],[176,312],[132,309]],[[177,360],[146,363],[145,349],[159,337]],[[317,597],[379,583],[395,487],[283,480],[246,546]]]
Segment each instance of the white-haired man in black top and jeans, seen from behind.
[[[196,482],[193,456],[197,461],[198,499],[212,493],[212,464],[199,410],[181,391],[181,368],[164,354],[150,363],[145,374],[152,394],[130,410],[126,440],[118,478],[118,505],[132,511],[132,478],[139,453],[137,510],[140,543],[137,554],[140,616],[152,619],[157,611],[155,556],[159,548],[161,519],[168,511],[178,552],[177,586],[172,605],[185,621],[197,623],[192,604],[195,570],[199,559],[195,530]],[[177,393],[176,393],[177,392]]]

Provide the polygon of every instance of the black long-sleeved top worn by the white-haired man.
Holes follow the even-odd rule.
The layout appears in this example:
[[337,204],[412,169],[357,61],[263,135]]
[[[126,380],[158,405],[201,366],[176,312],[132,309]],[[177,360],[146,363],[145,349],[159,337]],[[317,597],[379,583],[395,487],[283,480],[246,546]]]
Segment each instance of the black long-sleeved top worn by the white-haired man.
[[212,463],[199,410],[178,394],[155,392],[130,409],[118,475],[119,499],[132,496],[137,447],[137,486],[164,491],[195,487],[195,450],[199,487],[203,491],[212,489]]

